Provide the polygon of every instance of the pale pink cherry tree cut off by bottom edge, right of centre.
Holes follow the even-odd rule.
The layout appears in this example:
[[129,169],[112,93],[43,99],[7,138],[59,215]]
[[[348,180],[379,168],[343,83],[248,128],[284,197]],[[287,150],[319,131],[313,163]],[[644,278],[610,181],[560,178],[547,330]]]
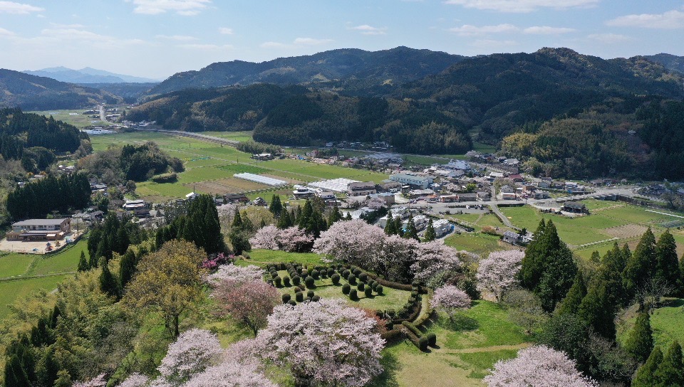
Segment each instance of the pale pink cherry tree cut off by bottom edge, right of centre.
[[515,359],[498,361],[484,378],[489,387],[597,387],[577,371],[574,361],[547,346],[531,346],[518,351]]

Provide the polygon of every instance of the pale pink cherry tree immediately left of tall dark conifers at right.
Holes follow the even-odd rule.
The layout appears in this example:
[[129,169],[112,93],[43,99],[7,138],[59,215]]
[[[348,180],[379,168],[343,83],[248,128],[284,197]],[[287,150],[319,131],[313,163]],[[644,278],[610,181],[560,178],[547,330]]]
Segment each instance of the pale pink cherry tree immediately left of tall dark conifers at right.
[[477,289],[501,299],[507,290],[518,285],[518,272],[525,253],[519,250],[494,251],[477,267]]

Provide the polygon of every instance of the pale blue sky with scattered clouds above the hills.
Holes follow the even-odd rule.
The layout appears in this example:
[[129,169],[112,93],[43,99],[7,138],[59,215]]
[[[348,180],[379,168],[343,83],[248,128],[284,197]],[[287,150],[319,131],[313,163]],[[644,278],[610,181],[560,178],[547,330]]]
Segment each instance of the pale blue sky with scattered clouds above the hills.
[[0,1],[1,68],[89,66],[157,79],[333,48],[684,55],[683,37],[683,0]]

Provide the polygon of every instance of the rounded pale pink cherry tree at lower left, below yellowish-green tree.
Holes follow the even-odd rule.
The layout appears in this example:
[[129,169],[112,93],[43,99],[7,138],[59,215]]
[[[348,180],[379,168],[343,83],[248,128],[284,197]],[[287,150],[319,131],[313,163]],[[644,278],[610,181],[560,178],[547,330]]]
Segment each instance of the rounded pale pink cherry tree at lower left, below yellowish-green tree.
[[216,364],[221,354],[221,344],[215,334],[204,329],[190,329],[170,344],[159,372],[169,383],[184,383],[195,373]]

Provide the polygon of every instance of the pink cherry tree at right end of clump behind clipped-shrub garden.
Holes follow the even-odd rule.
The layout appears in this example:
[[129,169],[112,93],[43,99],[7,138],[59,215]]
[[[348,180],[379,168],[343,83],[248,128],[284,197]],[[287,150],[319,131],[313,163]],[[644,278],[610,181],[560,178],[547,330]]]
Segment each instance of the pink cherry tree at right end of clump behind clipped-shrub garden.
[[433,240],[418,244],[418,253],[411,270],[416,280],[437,287],[462,271],[464,262],[475,260],[476,257],[477,255],[467,251],[459,251]]

